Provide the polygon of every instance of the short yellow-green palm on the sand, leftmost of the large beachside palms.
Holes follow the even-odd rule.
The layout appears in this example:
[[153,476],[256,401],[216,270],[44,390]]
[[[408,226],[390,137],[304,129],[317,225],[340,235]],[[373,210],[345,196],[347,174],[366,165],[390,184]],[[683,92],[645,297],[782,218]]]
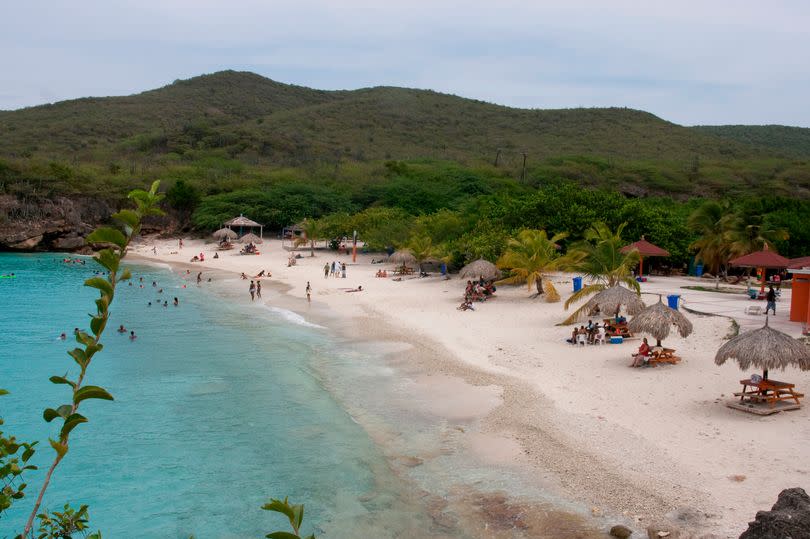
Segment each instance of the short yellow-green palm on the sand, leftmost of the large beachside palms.
[[560,255],[557,245],[567,235],[560,233],[549,238],[545,230],[521,230],[517,237],[509,240],[506,251],[498,259],[498,267],[510,272],[510,276],[499,283],[526,283],[529,290],[534,285],[537,295],[545,294],[546,301],[560,301],[557,289],[550,281],[543,281],[543,277],[567,263],[567,258]]

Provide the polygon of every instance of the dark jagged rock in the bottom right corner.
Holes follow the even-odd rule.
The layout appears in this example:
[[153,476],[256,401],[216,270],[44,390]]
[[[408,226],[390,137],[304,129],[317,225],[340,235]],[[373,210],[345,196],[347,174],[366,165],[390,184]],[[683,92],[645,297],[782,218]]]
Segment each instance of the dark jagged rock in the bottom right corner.
[[804,489],[779,493],[770,511],[759,511],[740,539],[810,539],[810,497]]

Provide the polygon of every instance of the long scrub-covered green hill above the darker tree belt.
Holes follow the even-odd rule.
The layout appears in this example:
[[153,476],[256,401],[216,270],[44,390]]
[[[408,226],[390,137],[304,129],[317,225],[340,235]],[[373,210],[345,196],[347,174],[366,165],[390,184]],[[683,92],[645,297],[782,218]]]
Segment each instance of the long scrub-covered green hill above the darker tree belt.
[[184,179],[203,194],[290,178],[362,190],[382,181],[385,162],[425,160],[489,167],[500,182],[524,176],[525,158],[522,187],[562,179],[631,196],[810,197],[807,130],[779,128],[779,142],[768,135],[777,128],[745,128],[759,133],[746,138],[631,109],[516,109],[392,87],[321,91],[224,71],[0,112],[0,194],[120,194],[153,178]]

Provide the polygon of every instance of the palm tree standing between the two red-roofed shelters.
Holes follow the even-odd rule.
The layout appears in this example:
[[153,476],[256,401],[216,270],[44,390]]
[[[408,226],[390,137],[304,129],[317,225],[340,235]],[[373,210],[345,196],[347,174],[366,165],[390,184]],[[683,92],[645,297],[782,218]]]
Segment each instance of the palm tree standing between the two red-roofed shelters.
[[738,219],[727,204],[709,200],[693,211],[686,222],[700,236],[689,248],[697,251],[695,260],[716,276],[715,287],[720,286],[720,271],[731,257],[731,231]]

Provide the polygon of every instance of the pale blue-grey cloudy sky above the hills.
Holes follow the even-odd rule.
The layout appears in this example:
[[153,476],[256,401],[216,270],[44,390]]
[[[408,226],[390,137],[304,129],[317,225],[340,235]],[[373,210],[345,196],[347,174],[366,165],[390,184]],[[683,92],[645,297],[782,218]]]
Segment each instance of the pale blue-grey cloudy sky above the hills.
[[810,127],[808,28],[806,0],[8,0],[0,109],[237,69],[322,89]]

